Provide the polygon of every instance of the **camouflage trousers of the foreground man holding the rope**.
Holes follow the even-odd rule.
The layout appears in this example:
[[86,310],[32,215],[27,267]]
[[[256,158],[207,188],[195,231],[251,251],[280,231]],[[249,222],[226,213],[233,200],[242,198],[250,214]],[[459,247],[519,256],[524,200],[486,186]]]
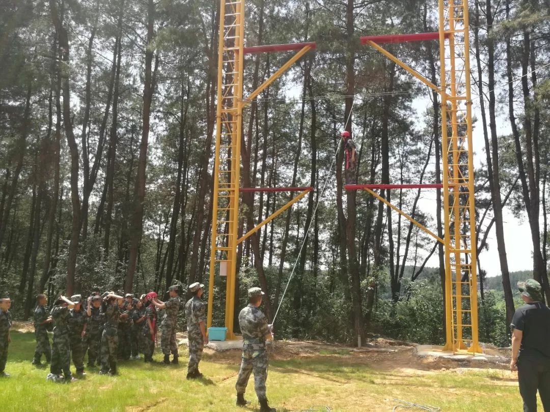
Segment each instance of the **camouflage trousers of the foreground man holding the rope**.
[[267,350],[257,344],[243,346],[243,360],[237,378],[237,393],[245,393],[251,372],[254,371],[254,389],[258,399],[266,398]]

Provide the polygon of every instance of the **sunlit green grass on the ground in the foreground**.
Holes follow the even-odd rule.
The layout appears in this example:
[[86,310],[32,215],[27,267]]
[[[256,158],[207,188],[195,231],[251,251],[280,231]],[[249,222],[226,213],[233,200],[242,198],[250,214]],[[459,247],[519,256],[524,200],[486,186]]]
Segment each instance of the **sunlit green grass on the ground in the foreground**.
[[[34,334],[12,332],[6,371],[0,381],[0,405],[9,411],[100,410],[243,411],[234,406],[238,354],[206,355],[201,371],[208,377],[187,381],[186,350],[179,367],[125,361],[117,377],[87,371],[79,382],[46,381],[49,368],[30,364]],[[518,411],[521,399],[513,377],[502,370],[422,371],[369,364],[337,350],[320,357],[270,362],[270,403],[278,410],[303,410],[327,405],[333,411],[391,411],[394,398],[440,407],[442,411]],[[332,352],[332,353],[331,353]],[[344,355],[344,356],[342,356]],[[160,360],[160,355],[156,359]],[[409,368],[408,365],[398,365]],[[74,368],[73,368],[74,370]],[[246,397],[257,409],[251,378]],[[403,409],[398,409],[403,410]],[[411,409],[414,410],[414,409]],[[542,409],[541,409],[542,410]]]

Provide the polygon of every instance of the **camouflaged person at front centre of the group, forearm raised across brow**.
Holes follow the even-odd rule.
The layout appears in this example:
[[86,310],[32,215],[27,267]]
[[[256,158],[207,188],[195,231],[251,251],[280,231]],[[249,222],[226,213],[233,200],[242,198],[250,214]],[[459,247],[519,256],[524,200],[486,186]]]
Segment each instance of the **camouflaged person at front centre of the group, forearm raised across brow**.
[[120,319],[119,304],[123,297],[109,293],[106,297],[105,326],[101,336],[101,370],[100,374],[117,374],[118,322]]

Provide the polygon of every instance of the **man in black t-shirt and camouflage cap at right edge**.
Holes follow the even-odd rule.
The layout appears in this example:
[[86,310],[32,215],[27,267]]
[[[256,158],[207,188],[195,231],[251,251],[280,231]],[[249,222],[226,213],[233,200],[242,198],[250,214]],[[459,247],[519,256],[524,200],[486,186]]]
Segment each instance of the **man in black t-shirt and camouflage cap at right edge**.
[[511,322],[510,370],[518,370],[524,412],[536,412],[537,390],[545,412],[550,412],[550,309],[542,303],[541,285],[533,279],[518,282],[525,305]]

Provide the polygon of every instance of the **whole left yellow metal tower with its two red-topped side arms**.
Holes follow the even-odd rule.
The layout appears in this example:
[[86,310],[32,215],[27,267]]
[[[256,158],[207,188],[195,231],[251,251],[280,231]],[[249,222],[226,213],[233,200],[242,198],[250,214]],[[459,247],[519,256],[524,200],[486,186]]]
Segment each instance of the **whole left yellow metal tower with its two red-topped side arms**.
[[[233,316],[238,244],[312,190],[311,187],[240,187],[243,109],[300,57],[314,48],[314,42],[244,47],[244,0],[221,0],[207,327],[212,325],[214,279],[217,272],[221,276],[226,276],[225,326],[228,329],[229,339],[235,337],[233,334]],[[250,96],[243,98],[244,55],[285,51],[298,52],[253,91]],[[243,191],[290,191],[299,192],[299,194],[267,219],[250,229],[244,236],[238,238],[239,193]]]

